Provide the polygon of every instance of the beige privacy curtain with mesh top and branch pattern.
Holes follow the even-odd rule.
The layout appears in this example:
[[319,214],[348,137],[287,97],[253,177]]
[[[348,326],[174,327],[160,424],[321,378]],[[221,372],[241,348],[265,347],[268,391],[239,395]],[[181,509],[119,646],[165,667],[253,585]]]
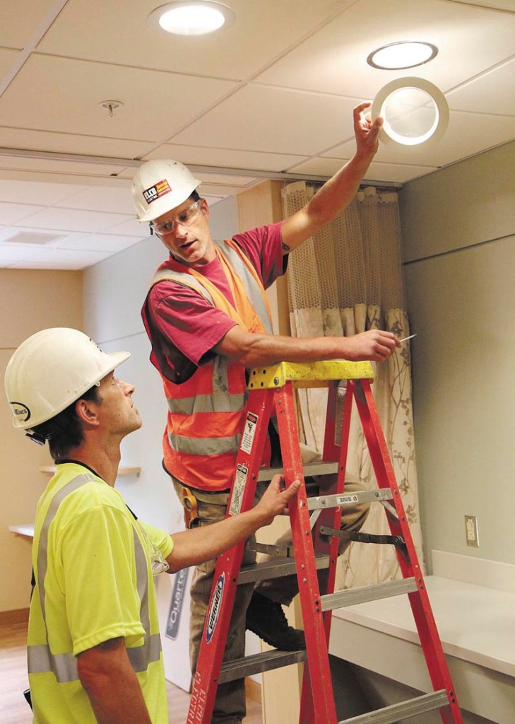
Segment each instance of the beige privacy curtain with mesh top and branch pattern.
[[[296,182],[283,190],[285,216],[307,203],[314,190]],[[290,254],[289,312],[294,337],[349,336],[366,329],[409,335],[401,264],[396,193],[360,191],[345,211]],[[373,394],[391,454],[393,471],[417,554],[422,536],[412,422],[409,342],[381,365],[373,365]],[[343,400],[344,387],[339,390]],[[318,452],[323,447],[327,390],[299,390],[301,437]],[[352,413],[347,479],[377,487],[357,411]],[[383,507],[373,504],[363,531],[389,534]],[[339,559],[337,589],[366,586],[401,577],[392,546],[353,543]]]

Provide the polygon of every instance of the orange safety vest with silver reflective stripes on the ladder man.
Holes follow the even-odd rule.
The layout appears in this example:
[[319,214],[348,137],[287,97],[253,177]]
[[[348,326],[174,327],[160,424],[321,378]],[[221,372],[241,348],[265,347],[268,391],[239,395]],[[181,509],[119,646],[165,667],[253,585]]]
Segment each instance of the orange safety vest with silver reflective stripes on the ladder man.
[[[249,259],[233,240],[215,242],[235,306],[197,269],[169,258],[150,287],[171,279],[191,287],[247,332],[272,333],[265,289]],[[197,367],[181,384],[161,374],[168,401],[163,435],[164,465],[183,484],[220,492],[231,487],[247,400],[245,368],[222,355]],[[265,450],[268,463],[270,448]]]

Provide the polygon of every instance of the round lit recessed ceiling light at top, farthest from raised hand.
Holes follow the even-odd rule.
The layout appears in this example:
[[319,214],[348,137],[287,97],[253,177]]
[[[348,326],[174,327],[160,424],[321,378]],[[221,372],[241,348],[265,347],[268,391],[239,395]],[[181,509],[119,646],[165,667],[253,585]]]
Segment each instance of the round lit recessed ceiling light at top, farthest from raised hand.
[[153,10],[148,23],[158,30],[176,35],[207,35],[229,27],[234,22],[234,12],[215,0],[178,0]]

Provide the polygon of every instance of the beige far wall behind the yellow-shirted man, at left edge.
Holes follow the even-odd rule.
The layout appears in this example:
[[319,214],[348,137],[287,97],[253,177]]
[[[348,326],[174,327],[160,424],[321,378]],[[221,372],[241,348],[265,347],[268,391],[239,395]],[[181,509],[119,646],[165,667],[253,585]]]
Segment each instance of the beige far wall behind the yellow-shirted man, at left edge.
[[[0,269],[0,376],[14,349],[46,327],[82,327],[82,273]],[[2,384],[3,387],[3,384]],[[4,400],[4,392],[1,392]],[[29,539],[14,536],[9,526],[33,523],[35,506],[48,476],[38,471],[51,464],[48,447],[30,442],[12,427],[7,403],[1,403],[0,461],[4,479],[0,506],[0,611],[26,608],[30,597]],[[7,583],[6,583],[7,582]]]

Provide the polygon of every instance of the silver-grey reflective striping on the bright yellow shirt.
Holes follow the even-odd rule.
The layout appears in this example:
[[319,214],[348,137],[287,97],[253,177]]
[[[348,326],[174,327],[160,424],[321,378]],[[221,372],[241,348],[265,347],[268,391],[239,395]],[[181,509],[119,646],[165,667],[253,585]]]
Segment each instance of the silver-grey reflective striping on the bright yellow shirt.
[[[48,530],[52,521],[56,517],[59,505],[67,495],[90,482],[98,481],[98,478],[91,473],[85,473],[75,477],[59,492],[57,492],[51,500],[46,513],[46,518],[41,527],[41,535],[38,544],[38,591],[41,601],[41,613],[43,615],[43,623],[46,628],[45,614],[45,576],[48,568]],[[145,557],[140,539],[133,527],[134,544],[135,544],[135,563],[136,563],[136,584],[137,592],[140,597],[140,621],[145,631],[145,642],[140,647],[127,649],[129,661],[135,671],[145,671],[150,662],[158,661],[161,655],[161,638],[158,633],[150,636],[150,616],[148,611],[148,564]],[[77,673],[77,657],[72,652],[64,654],[52,654],[47,643],[37,644],[35,646],[27,646],[27,664],[28,673],[48,673],[53,671],[56,681],[59,683],[68,683],[70,681],[80,681]]]

